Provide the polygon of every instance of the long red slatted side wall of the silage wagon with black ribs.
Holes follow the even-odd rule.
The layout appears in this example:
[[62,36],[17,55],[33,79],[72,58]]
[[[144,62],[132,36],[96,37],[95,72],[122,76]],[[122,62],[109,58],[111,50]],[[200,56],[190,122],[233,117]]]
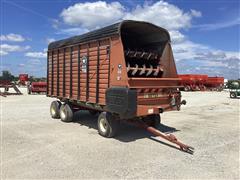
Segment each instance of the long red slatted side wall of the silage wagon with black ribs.
[[109,70],[110,39],[49,51],[47,95],[105,105]]

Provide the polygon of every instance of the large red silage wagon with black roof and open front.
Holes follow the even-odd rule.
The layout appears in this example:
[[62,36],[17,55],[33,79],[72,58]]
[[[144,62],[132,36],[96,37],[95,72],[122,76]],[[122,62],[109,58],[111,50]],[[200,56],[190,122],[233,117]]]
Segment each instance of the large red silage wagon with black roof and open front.
[[47,59],[47,96],[58,99],[51,103],[52,118],[71,122],[77,110],[99,113],[104,137],[114,136],[123,120],[156,127],[159,113],[180,110],[186,102],[169,33],[147,22],[122,21],[52,42]]

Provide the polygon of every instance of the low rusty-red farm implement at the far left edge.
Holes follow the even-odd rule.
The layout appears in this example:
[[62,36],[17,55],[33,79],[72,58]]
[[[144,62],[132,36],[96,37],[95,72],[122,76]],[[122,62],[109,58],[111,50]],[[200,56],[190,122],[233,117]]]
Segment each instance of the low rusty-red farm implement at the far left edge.
[[[0,96],[6,97],[7,95],[22,95],[21,91],[17,88],[16,84],[8,80],[0,80],[0,88],[3,88],[4,91],[0,91]],[[10,92],[9,89],[13,88],[15,92]]]

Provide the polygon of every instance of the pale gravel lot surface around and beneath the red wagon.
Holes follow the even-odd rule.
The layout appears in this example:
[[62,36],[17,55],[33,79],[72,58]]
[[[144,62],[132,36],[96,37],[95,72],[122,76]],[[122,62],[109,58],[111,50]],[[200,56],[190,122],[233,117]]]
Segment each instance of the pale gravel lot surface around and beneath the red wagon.
[[187,92],[187,105],[162,115],[161,130],[195,148],[184,153],[142,129],[121,125],[98,135],[97,117],[51,119],[52,98],[1,97],[2,179],[239,179],[239,99],[228,92]]

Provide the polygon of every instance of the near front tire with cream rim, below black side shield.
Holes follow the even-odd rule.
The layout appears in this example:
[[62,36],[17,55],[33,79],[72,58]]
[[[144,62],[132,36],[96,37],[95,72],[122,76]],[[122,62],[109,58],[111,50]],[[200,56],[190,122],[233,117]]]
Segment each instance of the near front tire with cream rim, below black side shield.
[[[106,131],[101,130],[101,119],[105,121]],[[102,112],[98,116],[98,133],[106,138],[114,137],[119,127],[119,121],[109,112]]]

